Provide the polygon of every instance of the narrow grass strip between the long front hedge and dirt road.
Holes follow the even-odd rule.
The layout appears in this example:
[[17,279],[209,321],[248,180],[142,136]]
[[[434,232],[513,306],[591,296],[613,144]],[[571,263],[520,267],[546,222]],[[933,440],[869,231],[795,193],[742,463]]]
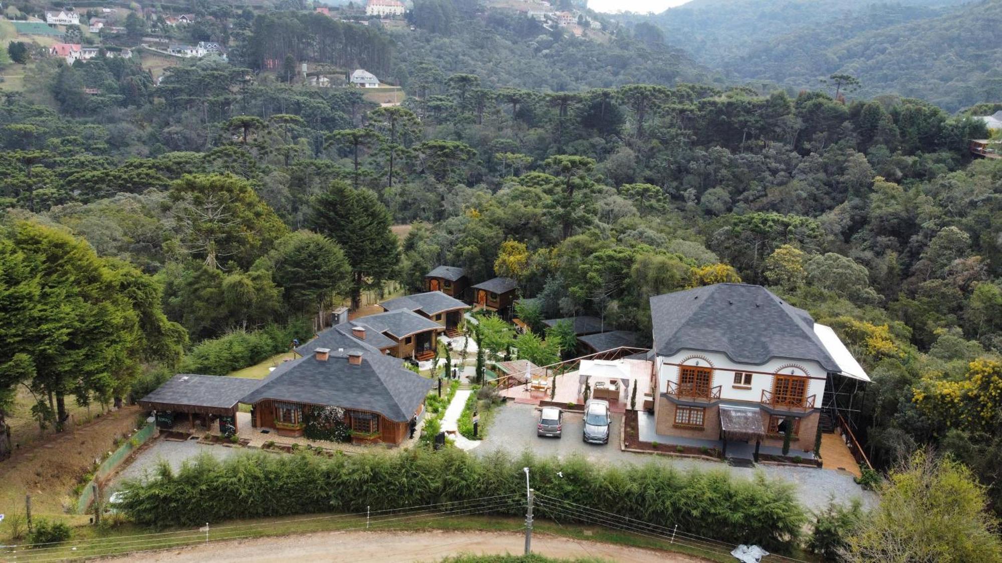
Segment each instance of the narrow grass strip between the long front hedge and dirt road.
[[[397,518],[394,520],[393,518]],[[365,515],[312,515],[295,518],[265,518],[255,520],[231,520],[209,526],[206,534],[197,529],[169,529],[151,532],[130,524],[115,528],[79,526],[74,530],[74,539],[56,546],[43,546],[34,550],[20,550],[17,561],[42,561],[62,557],[98,557],[124,554],[140,550],[171,549],[197,545],[209,541],[261,538],[308,534],[313,532],[349,531],[367,529]],[[387,530],[483,530],[493,532],[519,532],[524,529],[521,517],[468,516],[456,517],[429,514],[401,519],[399,516],[374,518],[368,529]],[[551,534],[576,540],[605,542],[610,544],[659,549],[702,557],[707,561],[733,561],[729,555],[695,549],[678,543],[652,539],[628,532],[619,532],[595,526],[560,524],[543,518],[536,518],[533,525],[536,534]],[[0,536],[2,537],[2,536]],[[9,538],[6,538],[9,540]],[[0,550],[0,555],[6,555]]]

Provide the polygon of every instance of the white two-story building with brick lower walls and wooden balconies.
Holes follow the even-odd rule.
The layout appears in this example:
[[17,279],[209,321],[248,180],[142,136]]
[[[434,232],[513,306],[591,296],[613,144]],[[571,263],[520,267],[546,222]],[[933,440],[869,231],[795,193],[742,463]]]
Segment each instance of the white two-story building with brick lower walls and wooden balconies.
[[[869,381],[829,327],[761,286],[717,284],[650,299],[658,435],[810,458],[835,378]],[[741,446],[744,444],[744,446]]]

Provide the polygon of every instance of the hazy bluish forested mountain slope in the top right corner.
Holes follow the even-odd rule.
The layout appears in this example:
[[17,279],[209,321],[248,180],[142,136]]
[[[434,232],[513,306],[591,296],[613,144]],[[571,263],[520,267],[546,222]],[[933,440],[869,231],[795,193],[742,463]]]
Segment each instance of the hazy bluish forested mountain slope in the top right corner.
[[1002,93],[998,0],[696,0],[650,21],[668,44],[732,79],[799,90],[851,74],[862,82],[857,95],[921,97],[949,110]]

